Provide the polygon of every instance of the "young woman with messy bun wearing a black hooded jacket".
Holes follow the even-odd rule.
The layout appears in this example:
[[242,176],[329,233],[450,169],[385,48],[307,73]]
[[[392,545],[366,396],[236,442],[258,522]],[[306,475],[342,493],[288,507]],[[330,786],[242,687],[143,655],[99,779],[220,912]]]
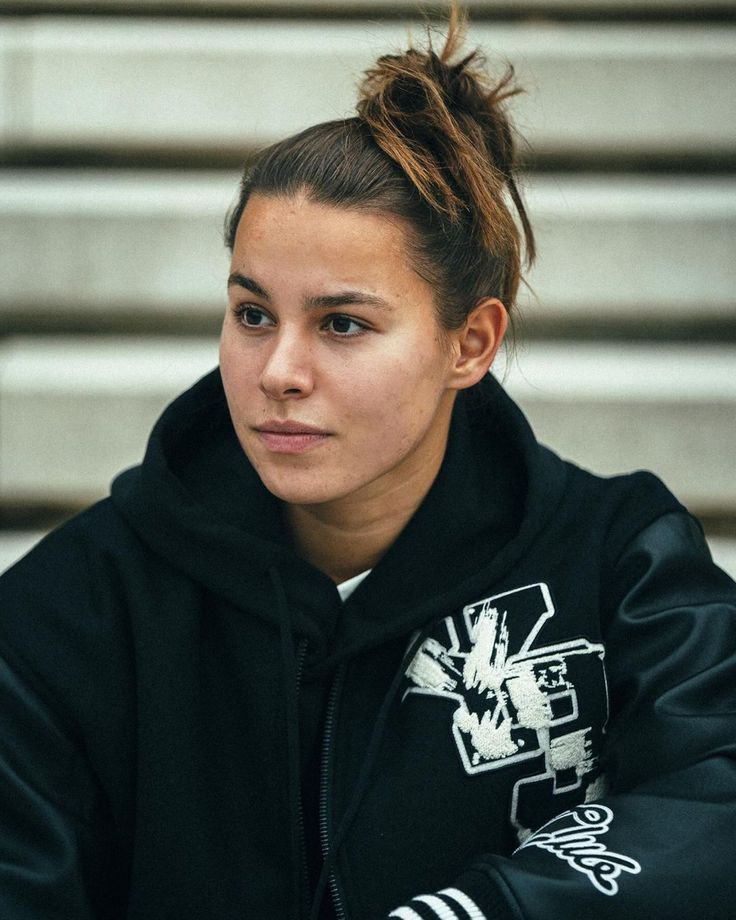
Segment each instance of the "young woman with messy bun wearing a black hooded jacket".
[[487,373],[533,242],[458,44],[262,154],[220,369],[4,577],[3,918],[733,916],[736,587]]

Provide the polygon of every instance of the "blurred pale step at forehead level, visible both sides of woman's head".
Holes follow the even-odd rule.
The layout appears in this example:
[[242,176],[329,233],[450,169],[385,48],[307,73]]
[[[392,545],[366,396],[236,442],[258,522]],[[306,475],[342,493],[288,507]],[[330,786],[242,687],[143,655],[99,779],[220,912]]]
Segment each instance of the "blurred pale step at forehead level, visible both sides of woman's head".
[[[214,331],[237,185],[229,171],[0,171],[0,320]],[[532,328],[736,325],[736,178],[537,175],[527,201]]]

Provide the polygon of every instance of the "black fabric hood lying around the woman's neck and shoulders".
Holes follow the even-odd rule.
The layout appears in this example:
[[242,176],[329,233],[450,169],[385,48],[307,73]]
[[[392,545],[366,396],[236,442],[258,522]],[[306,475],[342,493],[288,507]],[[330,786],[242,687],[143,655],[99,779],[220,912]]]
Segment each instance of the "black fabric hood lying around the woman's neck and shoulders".
[[238,443],[214,370],[164,411],[142,464],[113,483],[112,501],[155,554],[278,628],[269,576],[277,570],[294,630],[334,659],[467,603],[524,552],[564,478],[564,464],[488,375],[459,394],[432,488],[343,607],[328,576],[297,556],[281,503]]

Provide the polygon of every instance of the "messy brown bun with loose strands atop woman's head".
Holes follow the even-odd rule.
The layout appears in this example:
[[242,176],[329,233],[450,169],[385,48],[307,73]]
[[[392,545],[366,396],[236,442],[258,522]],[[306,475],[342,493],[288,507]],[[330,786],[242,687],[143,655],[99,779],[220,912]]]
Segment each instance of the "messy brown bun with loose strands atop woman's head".
[[519,91],[513,68],[491,83],[479,49],[457,60],[464,36],[453,3],[442,50],[434,50],[428,33],[426,49],[380,57],[364,75],[357,114],[424,201],[453,223],[469,218],[489,249],[508,242],[499,238],[507,237],[508,191],[531,261],[533,236],[516,187],[513,131],[503,104]]

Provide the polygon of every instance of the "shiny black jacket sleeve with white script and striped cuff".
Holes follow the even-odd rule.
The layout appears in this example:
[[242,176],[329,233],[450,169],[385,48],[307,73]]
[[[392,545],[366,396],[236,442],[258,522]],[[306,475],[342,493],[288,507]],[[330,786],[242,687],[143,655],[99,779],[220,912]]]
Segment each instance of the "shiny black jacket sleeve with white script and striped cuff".
[[672,512],[628,544],[607,593],[607,792],[391,917],[736,916],[736,585]]

